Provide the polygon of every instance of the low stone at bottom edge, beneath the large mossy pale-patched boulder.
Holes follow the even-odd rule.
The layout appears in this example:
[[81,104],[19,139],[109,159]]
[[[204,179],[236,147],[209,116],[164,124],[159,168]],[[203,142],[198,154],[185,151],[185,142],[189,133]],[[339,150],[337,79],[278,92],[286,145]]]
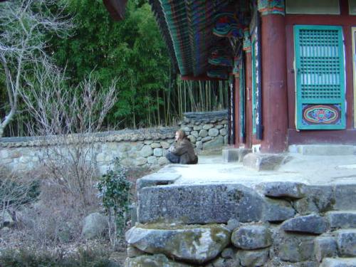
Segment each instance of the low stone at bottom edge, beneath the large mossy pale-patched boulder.
[[185,263],[177,263],[169,260],[166,256],[143,255],[136,258],[126,258],[125,267],[194,267]]

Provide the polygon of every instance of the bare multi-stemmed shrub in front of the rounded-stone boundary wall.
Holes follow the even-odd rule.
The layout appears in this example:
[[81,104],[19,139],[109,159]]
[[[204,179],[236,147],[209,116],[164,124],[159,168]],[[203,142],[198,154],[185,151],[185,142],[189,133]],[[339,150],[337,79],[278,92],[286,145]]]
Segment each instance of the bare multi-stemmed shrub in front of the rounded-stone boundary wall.
[[[33,80],[34,82],[30,82]],[[42,61],[21,93],[34,119],[28,130],[40,135],[40,159],[54,182],[85,204],[96,172],[95,135],[116,102],[116,80],[101,88],[89,75],[76,88],[63,85],[61,71]]]

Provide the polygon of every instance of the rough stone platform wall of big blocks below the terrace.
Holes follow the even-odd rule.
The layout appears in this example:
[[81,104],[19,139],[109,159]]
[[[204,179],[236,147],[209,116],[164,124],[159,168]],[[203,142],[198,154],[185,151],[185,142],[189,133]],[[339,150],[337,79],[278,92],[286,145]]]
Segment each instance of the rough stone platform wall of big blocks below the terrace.
[[172,185],[178,178],[138,180],[126,267],[356,266],[356,184]]

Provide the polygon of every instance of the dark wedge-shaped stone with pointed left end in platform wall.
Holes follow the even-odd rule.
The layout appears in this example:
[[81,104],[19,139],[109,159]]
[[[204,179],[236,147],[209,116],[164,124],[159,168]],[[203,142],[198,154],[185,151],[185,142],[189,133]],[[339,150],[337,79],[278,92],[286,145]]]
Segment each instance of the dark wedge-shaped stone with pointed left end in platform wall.
[[288,221],[283,222],[281,229],[284,231],[295,231],[309,234],[323,234],[328,230],[323,217],[315,214],[288,219]]

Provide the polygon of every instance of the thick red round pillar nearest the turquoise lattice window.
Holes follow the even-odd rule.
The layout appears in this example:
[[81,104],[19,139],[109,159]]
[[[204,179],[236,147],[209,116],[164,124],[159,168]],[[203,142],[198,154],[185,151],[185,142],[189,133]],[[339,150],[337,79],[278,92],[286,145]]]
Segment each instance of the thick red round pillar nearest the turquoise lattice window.
[[[266,3],[266,2],[265,2]],[[258,6],[259,11],[261,7]],[[286,26],[284,6],[264,6],[261,11],[262,124],[261,151],[277,153],[287,148],[288,105],[286,80]]]

